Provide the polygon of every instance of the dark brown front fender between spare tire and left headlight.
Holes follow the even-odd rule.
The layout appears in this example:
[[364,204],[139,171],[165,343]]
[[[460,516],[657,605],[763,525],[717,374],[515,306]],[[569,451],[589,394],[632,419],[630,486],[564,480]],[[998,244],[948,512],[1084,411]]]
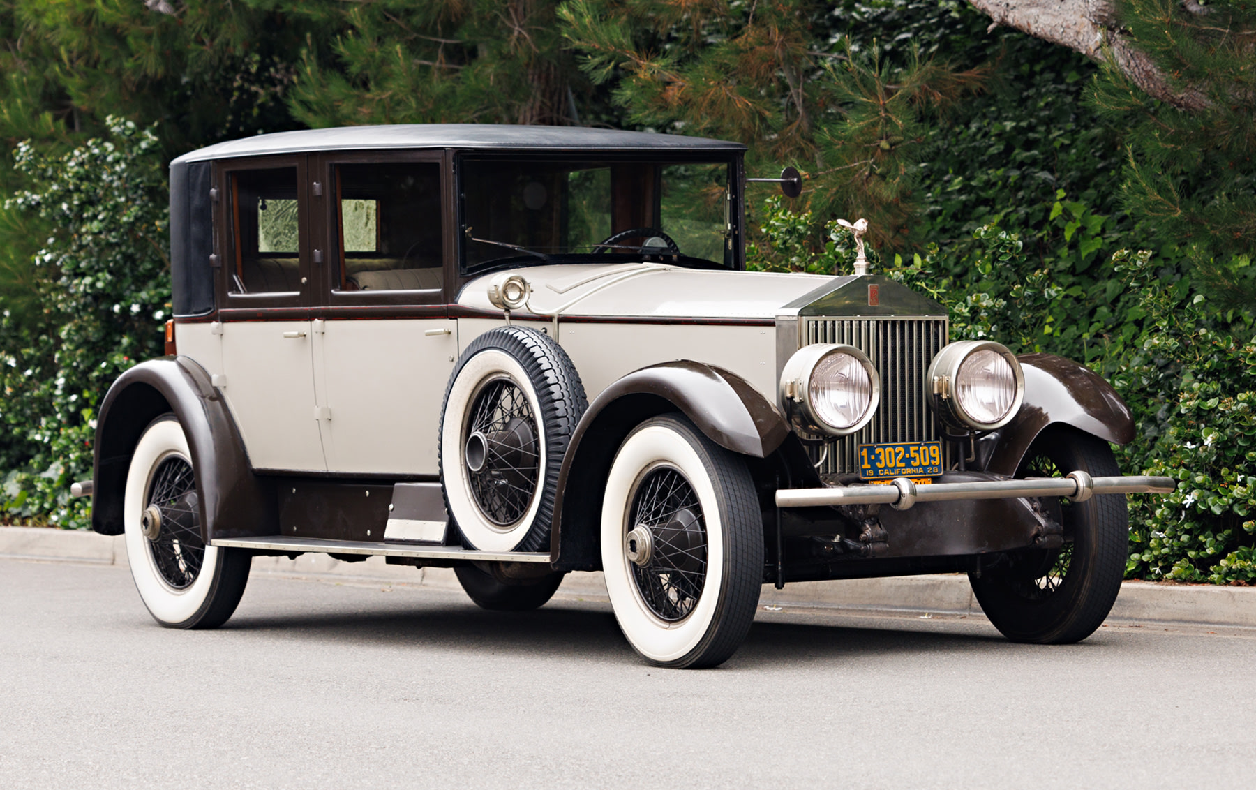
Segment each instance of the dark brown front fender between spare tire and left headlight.
[[666,362],[634,371],[602,391],[571,437],[558,477],[550,559],[568,570],[599,565],[598,525],[610,463],[643,421],[681,412],[712,442],[766,458],[790,436],[789,425],[744,378],[700,362]]

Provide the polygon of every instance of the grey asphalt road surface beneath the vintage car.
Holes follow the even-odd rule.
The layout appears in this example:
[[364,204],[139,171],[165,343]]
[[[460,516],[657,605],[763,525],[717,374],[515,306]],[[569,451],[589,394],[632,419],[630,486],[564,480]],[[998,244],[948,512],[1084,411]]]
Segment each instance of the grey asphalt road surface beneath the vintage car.
[[0,785],[1237,787],[1256,630],[761,612],[720,669],[642,663],[600,602],[255,575],[220,630],[126,569],[0,560]]

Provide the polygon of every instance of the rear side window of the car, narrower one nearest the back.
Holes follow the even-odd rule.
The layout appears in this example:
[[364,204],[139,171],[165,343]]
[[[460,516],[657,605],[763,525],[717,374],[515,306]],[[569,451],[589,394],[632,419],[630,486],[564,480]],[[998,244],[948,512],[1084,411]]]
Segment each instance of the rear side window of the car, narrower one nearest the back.
[[231,173],[231,220],[235,232],[232,294],[301,290],[296,168]]

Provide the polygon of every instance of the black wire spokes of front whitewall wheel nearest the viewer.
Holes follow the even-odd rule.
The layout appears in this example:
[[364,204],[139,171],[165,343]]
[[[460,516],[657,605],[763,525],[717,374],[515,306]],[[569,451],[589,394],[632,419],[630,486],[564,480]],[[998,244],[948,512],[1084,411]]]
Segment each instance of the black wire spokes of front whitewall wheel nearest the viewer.
[[637,593],[659,619],[683,620],[706,585],[707,534],[697,492],[678,470],[661,466],[638,484],[625,525],[649,549],[633,563]]

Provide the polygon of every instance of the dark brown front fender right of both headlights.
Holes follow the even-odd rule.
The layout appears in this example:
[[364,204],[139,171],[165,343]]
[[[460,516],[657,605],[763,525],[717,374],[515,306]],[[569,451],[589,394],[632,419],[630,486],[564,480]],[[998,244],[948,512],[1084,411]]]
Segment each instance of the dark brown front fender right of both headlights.
[[1025,373],[1025,402],[999,431],[986,471],[1015,475],[1030,445],[1051,425],[1073,426],[1114,445],[1134,440],[1129,407],[1095,372],[1055,354],[1021,354],[1016,359]]

